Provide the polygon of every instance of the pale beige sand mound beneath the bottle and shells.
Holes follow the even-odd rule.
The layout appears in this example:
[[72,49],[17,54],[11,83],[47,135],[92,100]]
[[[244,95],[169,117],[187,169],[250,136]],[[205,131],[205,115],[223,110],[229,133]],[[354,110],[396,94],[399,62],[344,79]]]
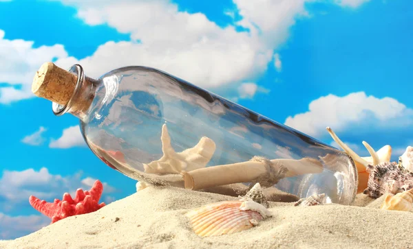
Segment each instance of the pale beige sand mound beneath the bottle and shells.
[[232,235],[198,237],[184,216],[237,198],[176,187],[149,187],[94,213],[67,217],[0,248],[413,248],[413,213],[379,209],[383,198],[357,195],[352,206],[270,202],[273,217]]

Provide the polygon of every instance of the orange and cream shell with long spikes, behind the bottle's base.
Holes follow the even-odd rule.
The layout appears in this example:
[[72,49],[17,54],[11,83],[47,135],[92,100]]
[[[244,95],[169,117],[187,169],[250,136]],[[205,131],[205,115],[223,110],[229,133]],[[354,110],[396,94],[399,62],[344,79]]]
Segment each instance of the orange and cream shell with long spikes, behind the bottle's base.
[[368,178],[369,178],[369,173],[366,171],[366,168],[368,165],[376,166],[379,165],[380,163],[389,163],[390,158],[392,157],[392,147],[390,145],[384,145],[381,147],[380,150],[377,152],[374,151],[374,149],[366,142],[363,141],[363,145],[366,147],[368,152],[370,153],[371,156],[364,156],[361,157],[356,152],[350,149],[346,145],[346,143],[343,143],[337,137],[335,132],[331,130],[330,127],[326,128],[332,139],[352,158],[354,161],[354,164],[357,167],[357,171],[359,173],[359,186],[357,187],[357,193],[361,193],[366,189],[367,183],[368,183]]

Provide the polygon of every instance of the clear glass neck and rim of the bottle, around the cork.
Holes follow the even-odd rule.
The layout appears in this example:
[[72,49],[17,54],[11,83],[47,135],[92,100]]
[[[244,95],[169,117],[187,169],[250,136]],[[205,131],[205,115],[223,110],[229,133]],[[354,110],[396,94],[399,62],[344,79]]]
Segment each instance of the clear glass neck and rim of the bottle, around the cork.
[[53,102],[52,110],[56,116],[61,116],[68,112],[78,117],[78,119],[85,120],[95,97],[98,80],[85,76],[83,68],[79,64],[74,64],[68,71],[77,75],[76,86],[72,96],[65,105]]

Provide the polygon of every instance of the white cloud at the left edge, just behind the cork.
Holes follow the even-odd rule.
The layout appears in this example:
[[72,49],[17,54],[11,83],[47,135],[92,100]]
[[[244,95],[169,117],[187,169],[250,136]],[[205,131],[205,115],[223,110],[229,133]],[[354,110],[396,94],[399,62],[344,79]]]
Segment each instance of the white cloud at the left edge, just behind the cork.
[[[0,104],[34,97],[31,91],[34,73],[53,58],[65,58],[67,52],[62,45],[33,48],[33,41],[8,40],[0,29],[0,82],[10,86],[0,87]],[[21,84],[20,88],[15,88]]]

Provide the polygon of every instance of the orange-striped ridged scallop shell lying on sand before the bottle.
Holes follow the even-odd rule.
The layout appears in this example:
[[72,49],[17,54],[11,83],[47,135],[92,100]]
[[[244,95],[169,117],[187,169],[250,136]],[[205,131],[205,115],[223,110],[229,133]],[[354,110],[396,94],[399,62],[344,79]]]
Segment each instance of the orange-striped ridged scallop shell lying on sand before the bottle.
[[262,204],[246,201],[224,201],[207,204],[186,214],[194,232],[200,237],[229,235],[253,226],[271,217]]

